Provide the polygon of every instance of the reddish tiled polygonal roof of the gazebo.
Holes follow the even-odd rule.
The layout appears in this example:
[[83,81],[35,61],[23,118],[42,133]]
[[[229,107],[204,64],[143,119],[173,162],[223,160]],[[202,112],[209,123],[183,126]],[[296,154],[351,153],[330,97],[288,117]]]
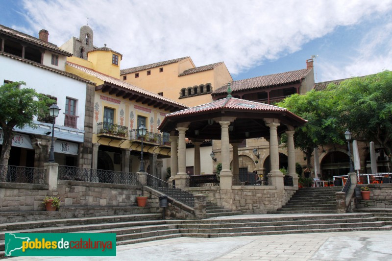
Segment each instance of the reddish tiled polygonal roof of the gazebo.
[[184,109],[178,112],[173,112],[170,114],[167,114],[167,118],[171,117],[178,117],[178,116],[184,116],[184,115],[190,115],[190,114],[198,114],[198,113],[204,113],[204,112],[212,112],[212,111],[221,111],[221,110],[238,110],[238,111],[244,111],[249,112],[249,111],[259,111],[259,112],[282,112],[288,115],[291,115],[293,118],[303,120],[306,122],[305,119],[300,118],[299,116],[296,116],[294,113],[290,112],[286,108],[266,104],[266,103],[260,103],[260,102],[255,102],[255,101],[250,101],[250,100],[243,100],[243,99],[238,99],[238,98],[233,98],[233,97],[226,97],[224,99],[220,100],[215,100],[209,103],[205,103],[202,105],[198,105],[192,108]]

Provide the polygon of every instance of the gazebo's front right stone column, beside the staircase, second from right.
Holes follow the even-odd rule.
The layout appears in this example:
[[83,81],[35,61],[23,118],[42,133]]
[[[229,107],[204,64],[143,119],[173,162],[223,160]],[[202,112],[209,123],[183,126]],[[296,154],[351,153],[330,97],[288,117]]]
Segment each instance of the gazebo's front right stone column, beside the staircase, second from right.
[[271,170],[268,179],[276,189],[283,190],[283,173],[279,171],[279,147],[277,127],[280,125],[278,119],[264,119],[270,128],[270,162]]

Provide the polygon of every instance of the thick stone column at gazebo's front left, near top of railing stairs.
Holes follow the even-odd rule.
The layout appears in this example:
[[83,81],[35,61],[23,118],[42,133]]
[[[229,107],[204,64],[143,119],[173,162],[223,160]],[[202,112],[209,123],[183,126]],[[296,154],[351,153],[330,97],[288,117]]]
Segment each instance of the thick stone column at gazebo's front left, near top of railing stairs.
[[[188,126],[188,124],[186,124]],[[178,131],[178,174],[175,176],[175,186],[178,188],[186,187],[186,179],[188,178],[187,170],[187,148],[185,143],[185,132],[188,127],[181,124],[177,128]]]

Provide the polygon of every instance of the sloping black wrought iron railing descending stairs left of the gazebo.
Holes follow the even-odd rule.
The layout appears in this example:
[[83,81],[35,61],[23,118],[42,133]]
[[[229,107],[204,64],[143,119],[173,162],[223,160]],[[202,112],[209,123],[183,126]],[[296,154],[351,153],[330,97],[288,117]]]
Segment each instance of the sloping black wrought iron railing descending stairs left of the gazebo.
[[150,174],[146,175],[148,187],[154,190],[158,190],[159,192],[168,195],[175,200],[180,201],[192,208],[195,207],[195,197],[192,193],[175,188],[173,185],[167,183],[166,181],[158,179],[157,177],[154,177]]

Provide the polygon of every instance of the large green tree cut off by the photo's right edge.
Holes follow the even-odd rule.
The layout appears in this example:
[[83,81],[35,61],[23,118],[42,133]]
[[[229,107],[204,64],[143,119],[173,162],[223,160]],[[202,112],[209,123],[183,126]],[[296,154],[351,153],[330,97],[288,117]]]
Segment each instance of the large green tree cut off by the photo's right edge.
[[374,141],[391,155],[392,72],[347,79],[327,90],[333,93],[341,122],[354,139]]

